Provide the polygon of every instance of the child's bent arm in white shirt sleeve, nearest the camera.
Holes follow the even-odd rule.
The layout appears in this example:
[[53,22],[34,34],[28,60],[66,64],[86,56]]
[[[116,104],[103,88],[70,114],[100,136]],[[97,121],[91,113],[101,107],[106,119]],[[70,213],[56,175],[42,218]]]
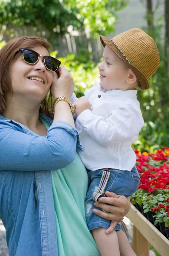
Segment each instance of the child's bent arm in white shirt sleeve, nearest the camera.
[[110,113],[106,120],[102,116],[94,115],[89,109],[82,109],[77,114],[77,122],[83,130],[97,143],[112,147],[123,140],[138,134],[144,126],[141,114],[129,104],[119,105]]

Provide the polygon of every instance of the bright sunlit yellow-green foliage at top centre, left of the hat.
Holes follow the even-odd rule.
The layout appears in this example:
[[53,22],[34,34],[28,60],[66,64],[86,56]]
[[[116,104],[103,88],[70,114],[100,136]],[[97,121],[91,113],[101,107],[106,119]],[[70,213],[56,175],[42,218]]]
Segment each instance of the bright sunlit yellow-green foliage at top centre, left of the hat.
[[113,32],[115,12],[127,5],[127,0],[64,0],[63,5],[72,9],[95,38],[98,34]]

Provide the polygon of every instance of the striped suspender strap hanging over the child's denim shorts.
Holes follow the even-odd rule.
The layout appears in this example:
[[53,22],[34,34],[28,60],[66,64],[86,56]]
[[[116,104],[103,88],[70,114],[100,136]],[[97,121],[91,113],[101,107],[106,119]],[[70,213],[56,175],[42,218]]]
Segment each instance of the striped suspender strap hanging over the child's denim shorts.
[[98,198],[104,194],[104,189],[107,185],[107,181],[109,179],[109,176],[110,176],[110,170],[108,168],[104,168],[103,169],[103,174],[101,176],[101,180],[100,180],[100,183],[99,183],[99,187],[97,189],[96,192],[93,193],[93,200],[95,202],[98,202]]

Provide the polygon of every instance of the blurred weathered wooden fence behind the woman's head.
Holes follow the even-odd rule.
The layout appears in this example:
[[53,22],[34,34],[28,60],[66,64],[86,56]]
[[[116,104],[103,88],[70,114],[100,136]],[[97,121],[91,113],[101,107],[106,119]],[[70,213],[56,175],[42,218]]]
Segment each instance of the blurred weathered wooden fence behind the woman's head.
[[22,36],[39,36],[47,38],[52,45],[56,46],[58,55],[61,56],[65,56],[68,53],[80,54],[83,52],[83,54],[85,54],[85,52],[90,52],[91,59],[99,62],[103,51],[99,36],[95,40],[90,37],[89,33],[85,30],[77,30],[71,33],[66,33],[65,35],[56,32],[53,33],[51,38],[50,32],[43,27],[41,27],[39,31],[31,26],[14,27],[9,25],[8,28],[5,29],[0,27],[0,38],[6,42],[13,37],[18,38]]

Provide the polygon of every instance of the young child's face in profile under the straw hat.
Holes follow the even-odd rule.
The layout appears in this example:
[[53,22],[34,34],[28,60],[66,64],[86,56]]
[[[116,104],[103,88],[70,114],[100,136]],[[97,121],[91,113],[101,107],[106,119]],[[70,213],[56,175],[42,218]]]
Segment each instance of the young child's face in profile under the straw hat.
[[99,64],[100,85],[105,90],[127,90],[128,66],[107,45]]

